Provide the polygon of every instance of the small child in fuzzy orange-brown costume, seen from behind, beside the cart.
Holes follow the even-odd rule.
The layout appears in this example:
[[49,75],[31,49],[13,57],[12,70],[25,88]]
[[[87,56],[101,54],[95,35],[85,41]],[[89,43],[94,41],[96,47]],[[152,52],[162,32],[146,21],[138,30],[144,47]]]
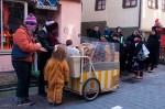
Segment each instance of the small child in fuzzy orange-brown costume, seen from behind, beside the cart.
[[68,83],[69,68],[65,61],[66,54],[65,45],[55,45],[52,57],[45,66],[44,79],[48,84],[47,100],[53,105],[62,103],[63,87]]

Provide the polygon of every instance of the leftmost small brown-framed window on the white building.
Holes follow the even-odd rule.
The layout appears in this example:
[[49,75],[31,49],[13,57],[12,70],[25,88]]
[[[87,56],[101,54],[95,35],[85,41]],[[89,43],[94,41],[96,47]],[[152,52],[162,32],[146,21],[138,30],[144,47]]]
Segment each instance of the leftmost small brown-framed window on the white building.
[[105,10],[106,9],[106,0],[96,0],[96,11]]

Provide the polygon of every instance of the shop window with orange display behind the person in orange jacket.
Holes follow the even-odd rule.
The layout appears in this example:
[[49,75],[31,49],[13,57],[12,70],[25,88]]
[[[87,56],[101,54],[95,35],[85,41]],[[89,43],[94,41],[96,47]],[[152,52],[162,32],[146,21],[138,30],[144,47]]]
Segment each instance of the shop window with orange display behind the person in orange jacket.
[[11,50],[13,45],[13,33],[19,29],[24,20],[26,11],[24,1],[4,1],[2,2],[2,17],[0,17],[2,29],[0,31],[0,52],[1,50]]

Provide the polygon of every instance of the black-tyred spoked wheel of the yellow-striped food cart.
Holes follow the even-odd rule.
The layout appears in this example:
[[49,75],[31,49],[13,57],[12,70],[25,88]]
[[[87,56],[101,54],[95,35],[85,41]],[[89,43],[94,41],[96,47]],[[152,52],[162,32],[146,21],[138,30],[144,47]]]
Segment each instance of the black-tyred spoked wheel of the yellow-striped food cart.
[[100,92],[100,83],[97,78],[89,78],[82,86],[82,98],[87,101],[95,100]]

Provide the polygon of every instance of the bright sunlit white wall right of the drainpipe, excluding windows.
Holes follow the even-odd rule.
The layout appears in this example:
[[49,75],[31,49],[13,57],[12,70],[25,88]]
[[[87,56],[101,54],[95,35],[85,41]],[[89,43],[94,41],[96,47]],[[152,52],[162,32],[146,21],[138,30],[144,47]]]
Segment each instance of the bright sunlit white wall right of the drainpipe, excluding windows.
[[165,25],[165,12],[162,11],[162,0],[158,0],[158,9],[150,9],[147,7],[147,0],[142,0],[142,24],[141,29],[151,31],[151,28],[155,23],[155,19],[160,19],[163,25]]

